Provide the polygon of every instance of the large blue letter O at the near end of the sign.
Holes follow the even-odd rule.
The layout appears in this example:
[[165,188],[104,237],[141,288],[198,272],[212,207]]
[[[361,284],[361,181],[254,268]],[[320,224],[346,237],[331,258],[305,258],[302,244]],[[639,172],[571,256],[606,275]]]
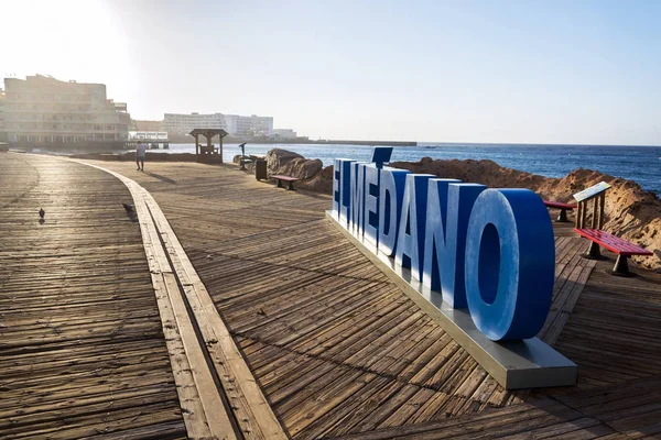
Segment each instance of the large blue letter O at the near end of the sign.
[[555,277],[553,226],[528,189],[486,189],[466,237],[466,299],[479,331],[494,341],[533,338],[541,330]]

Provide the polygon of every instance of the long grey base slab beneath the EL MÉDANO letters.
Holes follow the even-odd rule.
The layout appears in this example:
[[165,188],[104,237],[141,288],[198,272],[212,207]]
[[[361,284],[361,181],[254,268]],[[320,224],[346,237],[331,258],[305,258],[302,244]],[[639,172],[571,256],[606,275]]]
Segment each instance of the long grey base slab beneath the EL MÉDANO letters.
[[475,327],[467,309],[453,309],[444,305],[441,293],[430,290],[412,278],[411,271],[397,266],[394,258],[378,255],[372,244],[343,228],[332,211],[326,211],[326,217],[506,389],[576,384],[578,366],[546,343],[538,338],[491,341]]

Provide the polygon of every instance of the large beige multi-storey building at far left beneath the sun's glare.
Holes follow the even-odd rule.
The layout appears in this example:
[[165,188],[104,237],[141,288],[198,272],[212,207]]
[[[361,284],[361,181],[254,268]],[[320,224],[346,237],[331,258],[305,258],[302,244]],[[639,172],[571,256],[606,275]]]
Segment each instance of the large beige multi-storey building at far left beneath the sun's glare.
[[42,75],[4,78],[4,130],[10,145],[123,147],[127,105],[106,97],[102,84]]

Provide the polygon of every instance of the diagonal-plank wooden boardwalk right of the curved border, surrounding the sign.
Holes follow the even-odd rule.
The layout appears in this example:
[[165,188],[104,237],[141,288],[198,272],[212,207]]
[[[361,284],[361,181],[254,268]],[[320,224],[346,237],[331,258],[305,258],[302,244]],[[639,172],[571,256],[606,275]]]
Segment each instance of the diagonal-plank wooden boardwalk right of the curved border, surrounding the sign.
[[95,164],[153,196],[291,438],[661,433],[661,275],[606,275],[613,263],[581,258],[587,243],[565,226],[540,337],[579,365],[579,381],[511,393],[324,219],[329,197],[278,190],[231,165]]

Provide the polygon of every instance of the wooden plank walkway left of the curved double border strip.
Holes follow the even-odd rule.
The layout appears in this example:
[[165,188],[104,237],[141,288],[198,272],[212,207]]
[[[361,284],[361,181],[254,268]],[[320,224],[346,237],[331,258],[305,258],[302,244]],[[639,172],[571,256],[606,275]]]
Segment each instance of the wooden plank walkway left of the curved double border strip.
[[127,188],[29,155],[0,178],[0,438],[185,438]]

